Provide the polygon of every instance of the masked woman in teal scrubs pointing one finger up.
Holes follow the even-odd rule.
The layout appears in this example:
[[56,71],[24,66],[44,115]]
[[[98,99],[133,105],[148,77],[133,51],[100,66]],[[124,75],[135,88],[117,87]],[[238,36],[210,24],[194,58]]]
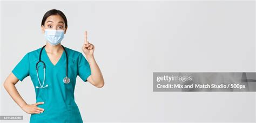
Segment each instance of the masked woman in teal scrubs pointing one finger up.
[[[74,98],[77,75],[98,88],[104,85],[93,56],[95,46],[87,41],[85,31],[82,50],[86,60],[82,53],[60,44],[68,28],[62,11],[52,9],[46,12],[41,26],[46,45],[27,53],[19,61],[5,79],[4,88],[23,111],[31,114],[30,122],[83,122]],[[43,62],[38,62],[40,60]],[[35,104],[27,104],[15,87],[27,76],[30,76],[36,91]]]

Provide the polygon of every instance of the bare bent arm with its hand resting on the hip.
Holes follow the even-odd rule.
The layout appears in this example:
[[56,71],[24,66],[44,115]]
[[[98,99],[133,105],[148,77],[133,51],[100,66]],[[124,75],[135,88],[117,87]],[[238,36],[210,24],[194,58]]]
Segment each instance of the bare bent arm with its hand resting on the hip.
[[19,92],[17,91],[15,84],[19,81],[19,79],[11,73],[4,81],[4,88],[9,93],[12,99],[19,105],[19,107],[22,108],[23,111],[26,113],[32,114],[32,113],[42,113],[44,111],[43,108],[37,107],[37,105],[44,104],[43,102],[38,102],[35,104],[26,104],[24,99],[19,95]]

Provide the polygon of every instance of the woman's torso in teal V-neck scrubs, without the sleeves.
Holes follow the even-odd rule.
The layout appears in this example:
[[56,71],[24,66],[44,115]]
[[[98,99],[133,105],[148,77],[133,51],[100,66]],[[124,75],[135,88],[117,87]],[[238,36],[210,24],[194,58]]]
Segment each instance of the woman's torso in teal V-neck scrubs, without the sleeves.
[[[30,60],[30,77],[34,88],[40,86],[37,78],[36,63],[38,61],[41,48],[29,53]],[[47,49],[46,49],[47,50]],[[66,76],[66,56],[62,48],[58,53],[52,54],[42,50],[42,61],[45,62],[45,83],[47,88],[37,89],[36,102],[44,102],[38,107],[44,108],[44,112],[40,114],[31,114],[30,122],[83,122],[78,106],[75,102],[74,90],[76,85],[76,77],[78,71],[78,54],[75,50],[66,48],[69,57],[68,76],[69,84],[63,83],[63,78]],[[43,82],[44,69],[43,64],[38,64],[38,76]],[[63,117],[63,115],[65,117]]]

